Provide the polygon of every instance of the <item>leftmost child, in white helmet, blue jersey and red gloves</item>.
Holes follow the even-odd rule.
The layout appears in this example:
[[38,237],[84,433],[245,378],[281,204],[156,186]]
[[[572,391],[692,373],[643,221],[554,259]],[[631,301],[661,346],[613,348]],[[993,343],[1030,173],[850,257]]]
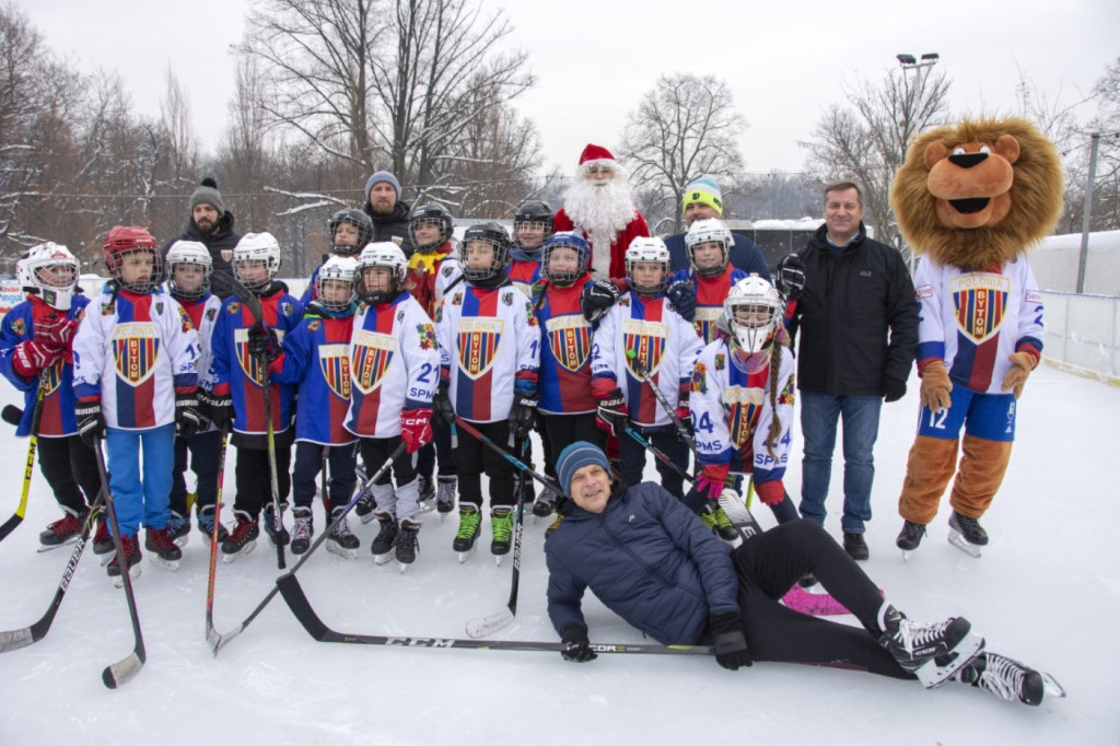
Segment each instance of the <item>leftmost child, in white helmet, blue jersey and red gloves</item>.
[[[90,299],[75,295],[78,263],[66,246],[43,243],[27,250],[17,264],[25,300],[0,323],[0,373],[24,392],[18,437],[36,436],[39,469],[55,493],[63,517],[39,533],[45,547],[82,532],[101,491],[93,450],[77,436],[74,419],[74,366],[71,344],[77,316]],[[38,429],[32,432],[35,402],[43,389]],[[104,519],[97,523],[95,549],[109,551]]]

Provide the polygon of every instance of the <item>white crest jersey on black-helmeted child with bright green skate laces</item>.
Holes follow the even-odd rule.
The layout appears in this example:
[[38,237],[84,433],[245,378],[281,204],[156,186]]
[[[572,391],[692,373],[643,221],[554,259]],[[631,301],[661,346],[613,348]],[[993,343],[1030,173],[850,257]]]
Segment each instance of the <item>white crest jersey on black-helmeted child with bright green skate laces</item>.
[[504,420],[519,382],[536,389],[541,333],[529,298],[516,288],[461,282],[444,298],[436,333],[441,375],[463,419]]

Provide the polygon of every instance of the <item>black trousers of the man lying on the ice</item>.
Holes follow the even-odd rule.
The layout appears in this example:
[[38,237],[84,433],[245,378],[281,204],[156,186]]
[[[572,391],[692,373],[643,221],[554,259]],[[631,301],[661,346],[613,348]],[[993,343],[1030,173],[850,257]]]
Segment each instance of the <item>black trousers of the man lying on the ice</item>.
[[[878,628],[879,589],[820,525],[796,520],[747,540],[731,552],[739,576],[739,610],[756,661],[808,663],[913,679],[868,632]],[[812,572],[866,627],[801,614],[781,605]]]

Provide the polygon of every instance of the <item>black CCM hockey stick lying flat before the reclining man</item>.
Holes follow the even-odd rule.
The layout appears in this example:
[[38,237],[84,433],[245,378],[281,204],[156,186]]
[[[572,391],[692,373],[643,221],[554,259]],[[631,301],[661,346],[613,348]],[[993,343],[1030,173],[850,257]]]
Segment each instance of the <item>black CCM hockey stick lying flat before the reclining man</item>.
[[[358,635],[335,632],[319,618],[311,608],[304,587],[292,572],[286,572],[277,578],[277,588],[283,596],[288,607],[296,615],[304,628],[318,642],[349,643],[357,645],[399,645],[407,647],[472,647],[475,650],[512,650],[561,652],[563,643],[549,642],[514,642],[508,640],[467,640],[461,637],[398,637],[383,635]],[[596,653],[644,653],[655,655],[712,655],[715,649],[710,645],[631,645],[631,644],[592,644]]]

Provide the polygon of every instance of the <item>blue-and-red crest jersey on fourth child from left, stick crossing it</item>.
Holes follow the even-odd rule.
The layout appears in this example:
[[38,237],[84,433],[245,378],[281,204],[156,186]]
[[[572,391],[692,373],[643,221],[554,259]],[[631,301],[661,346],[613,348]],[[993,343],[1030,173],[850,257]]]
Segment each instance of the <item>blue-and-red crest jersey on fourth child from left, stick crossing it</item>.
[[[284,336],[299,324],[302,307],[288,295],[288,287],[282,282],[273,282],[260,301],[265,326],[276,329],[282,344]],[[225,299],[214,325],[214,360],[209,373],[214,393],[233,398],[234,431],[245,435],[263,435],[268,429],[261,385],[264,366],[249,354],[249,329],[255,325],[256,318],[235,296]],[[283,432],[291,422],[296,388],[282,383],[270,383],[269,386],[272,428],[274,432]]]

